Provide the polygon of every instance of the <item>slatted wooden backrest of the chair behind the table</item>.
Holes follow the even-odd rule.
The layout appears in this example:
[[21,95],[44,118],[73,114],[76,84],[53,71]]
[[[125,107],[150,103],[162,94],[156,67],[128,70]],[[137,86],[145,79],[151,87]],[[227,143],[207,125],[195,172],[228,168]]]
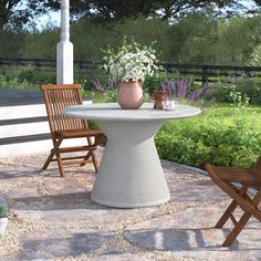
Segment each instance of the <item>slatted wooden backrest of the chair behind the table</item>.
[[66,106],[82,105],[79,84],[42,85],[51,132],[86,129],[87,122],[71,118],[61,112]]

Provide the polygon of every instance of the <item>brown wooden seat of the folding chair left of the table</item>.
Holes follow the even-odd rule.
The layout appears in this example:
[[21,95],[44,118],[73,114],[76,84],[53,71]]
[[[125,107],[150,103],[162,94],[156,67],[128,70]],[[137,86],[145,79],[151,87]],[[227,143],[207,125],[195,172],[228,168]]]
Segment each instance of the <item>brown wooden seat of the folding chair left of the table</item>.
[[103,135],[103,132],[100,129],[76,129],[76,130],[58,130],[53,135],[59,138],[63,136],[64,138],[83,138],[91,136]]

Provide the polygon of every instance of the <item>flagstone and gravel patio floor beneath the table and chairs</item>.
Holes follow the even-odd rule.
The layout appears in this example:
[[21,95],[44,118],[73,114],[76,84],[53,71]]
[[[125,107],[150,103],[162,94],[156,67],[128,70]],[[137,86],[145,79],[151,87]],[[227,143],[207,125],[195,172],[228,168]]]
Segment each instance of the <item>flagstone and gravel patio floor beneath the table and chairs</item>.
[[[251,219],[230,248],[213,229],[227,197],[199,173],[163,160],[171,200],[137,209],[93,203],[91,167],[60,178],[45,155],[0,159],[0,194],[10,220],[0,260],[261,260],[261,223]],[[67,171],[69,173],[69,171]]]

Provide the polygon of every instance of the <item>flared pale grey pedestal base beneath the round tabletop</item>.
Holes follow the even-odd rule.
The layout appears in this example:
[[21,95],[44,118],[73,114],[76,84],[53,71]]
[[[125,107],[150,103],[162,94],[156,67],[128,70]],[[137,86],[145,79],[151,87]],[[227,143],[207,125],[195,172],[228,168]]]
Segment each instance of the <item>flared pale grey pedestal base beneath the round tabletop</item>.
[[169,200],[154,135],[164,122],[98,123],[107,136],[92,200],[109,207],[136,208]]

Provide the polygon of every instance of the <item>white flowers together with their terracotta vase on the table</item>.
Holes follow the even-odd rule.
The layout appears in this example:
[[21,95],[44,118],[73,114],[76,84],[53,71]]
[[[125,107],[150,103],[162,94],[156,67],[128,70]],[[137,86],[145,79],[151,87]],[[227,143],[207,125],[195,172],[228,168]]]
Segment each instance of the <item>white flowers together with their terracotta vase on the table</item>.
[[126,38],[118,49],[108,48],[103,67],[113,80],[118,81],[117,102],[123,108],[138,108],[143,104],[143,82],[146,75],[153,75],[158,66],[156,51],[142,46],[134,39],[127,43]]

